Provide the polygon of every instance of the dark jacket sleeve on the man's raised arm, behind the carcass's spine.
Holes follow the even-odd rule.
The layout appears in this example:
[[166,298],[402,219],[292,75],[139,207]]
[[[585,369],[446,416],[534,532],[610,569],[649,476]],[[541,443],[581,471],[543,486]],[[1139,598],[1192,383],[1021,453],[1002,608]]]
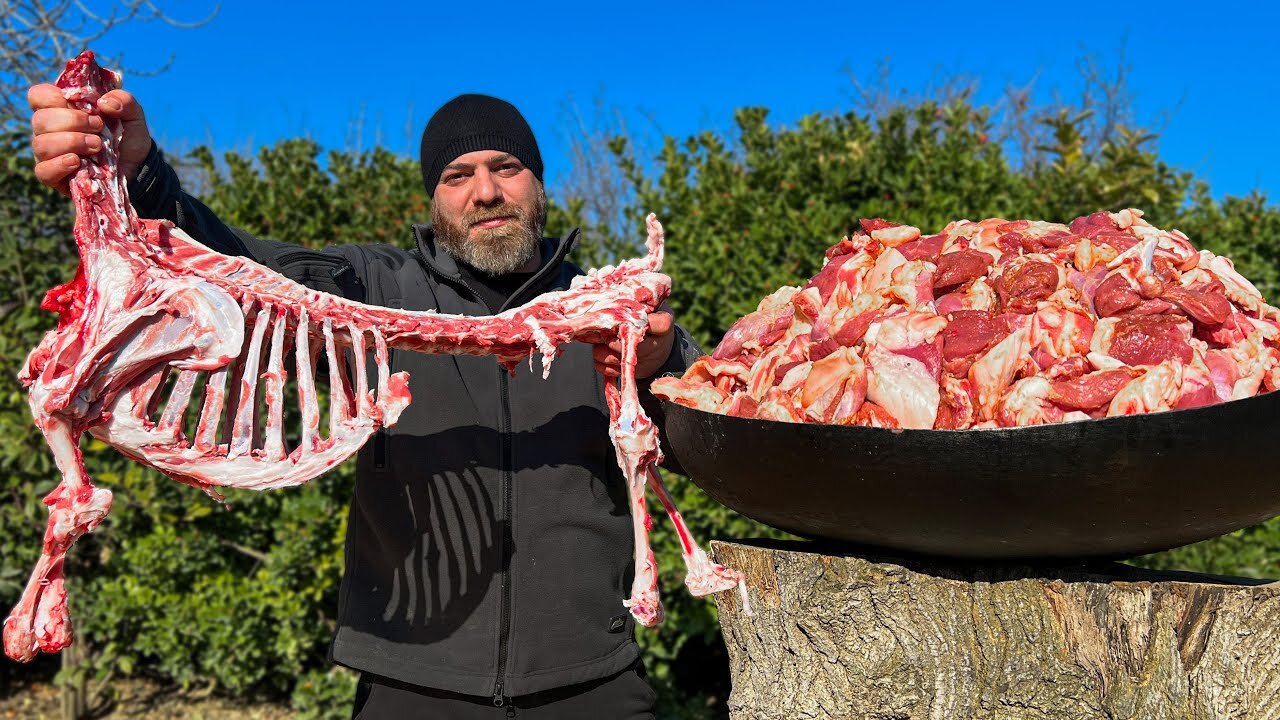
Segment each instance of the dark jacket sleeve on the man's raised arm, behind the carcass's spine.
[[[253,237],[224,223],[204,202],[182,190],[178,173],[151,142],[151,151],[128,183],[129,200],[142,218],[170,220],[206,247],[261,263],[312,290],[365,301],[364,254],[358,249],[310,250],[291,242]],[[344,277],[344,270],[353,270]]]

